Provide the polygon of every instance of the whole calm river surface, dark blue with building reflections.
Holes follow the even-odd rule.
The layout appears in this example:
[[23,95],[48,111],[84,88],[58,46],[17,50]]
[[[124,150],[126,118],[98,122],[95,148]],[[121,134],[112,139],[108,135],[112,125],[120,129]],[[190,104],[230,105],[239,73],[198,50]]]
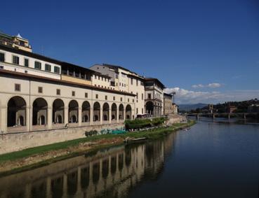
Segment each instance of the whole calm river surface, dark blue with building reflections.
[[259,125],[221,121],[2,177],[0,198],[257,198]]

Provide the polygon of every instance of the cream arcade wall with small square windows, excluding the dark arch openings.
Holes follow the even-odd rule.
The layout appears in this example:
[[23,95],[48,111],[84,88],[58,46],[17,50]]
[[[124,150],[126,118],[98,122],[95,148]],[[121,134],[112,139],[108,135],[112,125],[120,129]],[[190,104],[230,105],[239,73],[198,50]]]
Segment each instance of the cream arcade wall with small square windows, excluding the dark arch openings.
[[[20,92],[15,91],[15,84],[20,84]],[[39,87],[42,87],[43,92],[39,93]],[[60,90],[60,95],[57,95],[57,89]],[[75,93],[72,96],[72,92]],[[87,97],[86,94],[87,93]],[[131,106],[131,118],[135,114],[135,103],[133,102],[134,96],[127,95],[124,93],[117,92],[107,92],[105,90],[94,90],[88,87],[79,87],[68,84],[62,84],[58,82],[46,82],[46,80],[28,80],[26,77],[21,76],[9,76],[0,74],[0,132],[7,132],[7,111],[8,111],[8,101],[15,96],[22,97],[26,102],[26,127],[21,131],[33,131],[35,127],[32,126],[32,106],[33,102],[37,98],[43,98],[48,104],[48,118],[46,126],[41,126],[41,129],[53,129],[53,119],[52,119],[52,108],[53,101],[55,99],[62,99],[65,104],[65,115],[64,115],[64,125],[69,122],[68,118],[68,106],[69,102],[76,100],[79,106],[79,117],[78,123],[73,123],[73,127],[80,127],[86,124],[81,122],[81,107],[84,101],[88,101],[91,106],[91,118],[87,125],[102,125],[102,106],[103,104],[109,104],[109,117],[111,117],[111,106],[112,104],[117,105],[117,120],[115,122],[124,122],[124,120],[119,120],[119,105],[124,106],[124,119],[126,118],[126,106]],[[107,99],[106,99],[107,97]],[[93,122],[93,104],[98,101],[100,104],[100,122]],[[109,121],[112,123],[111,118]],[[64,127],[64,125],[60,127]],[[43,127],[43,128],[42,128]]]

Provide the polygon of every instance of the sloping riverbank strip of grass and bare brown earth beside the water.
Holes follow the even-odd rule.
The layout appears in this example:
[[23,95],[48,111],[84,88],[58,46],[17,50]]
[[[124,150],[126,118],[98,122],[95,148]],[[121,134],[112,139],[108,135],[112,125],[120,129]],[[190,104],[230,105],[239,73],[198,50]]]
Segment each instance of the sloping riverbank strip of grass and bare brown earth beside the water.
[[171,127],[161,127],[141,132],[128,132],[126,134],[105,134],[91,136],[83,139],[75,139],[61,143],[53,143],[46,146],[28,148],[18,152],[0,155],[0,175],[25,171],[35,167],[41,167],[59,160],[82,154],[90,154],[101,148],[116,146],[124,143],[126,138],[158,139],[170,132],[194,125],[194,121],[173,124]]

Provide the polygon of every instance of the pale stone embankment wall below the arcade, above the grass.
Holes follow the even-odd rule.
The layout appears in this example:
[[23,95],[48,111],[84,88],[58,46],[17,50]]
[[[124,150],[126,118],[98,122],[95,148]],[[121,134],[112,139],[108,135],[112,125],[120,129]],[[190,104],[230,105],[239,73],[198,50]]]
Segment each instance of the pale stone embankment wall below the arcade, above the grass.
[[0,155],[23,150],[25,148],[84,138],[86,131],[100,131],[102,129],[116,129],[120,127],[124,127],[124,123],[88,127],[69,127],[38,132],[0,134]]

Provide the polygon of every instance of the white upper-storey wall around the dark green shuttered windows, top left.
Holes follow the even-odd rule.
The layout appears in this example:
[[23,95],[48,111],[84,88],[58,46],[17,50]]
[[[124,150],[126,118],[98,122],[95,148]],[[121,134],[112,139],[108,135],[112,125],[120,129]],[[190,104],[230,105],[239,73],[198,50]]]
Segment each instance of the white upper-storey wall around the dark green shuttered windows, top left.
[[[54,66],[57,66],[61,72],[61,66],[52,62],[46,62],[41,59],[35,59],[33,57],[28,57],[25,55],[19,55],[17,53],[8,52],[6,50],[0,50],[1,53],[5,55],[5,62],[0,62],[0,66],[4,66],[4,69],[9,71],[17,71],[21,73],[27,73],[36,75],[36,76],[43,76],[47,78],[55,78],[60,79],[60,73],[54,73]],[[13,64],[13,56],[19,57],[19,65]],[[25,59],[29,59],[29,66],[25,66]],[[41,70],[34,69],[34,62],[41,62]],[[45,64],[51,65],[51,71],[45,71]]]

